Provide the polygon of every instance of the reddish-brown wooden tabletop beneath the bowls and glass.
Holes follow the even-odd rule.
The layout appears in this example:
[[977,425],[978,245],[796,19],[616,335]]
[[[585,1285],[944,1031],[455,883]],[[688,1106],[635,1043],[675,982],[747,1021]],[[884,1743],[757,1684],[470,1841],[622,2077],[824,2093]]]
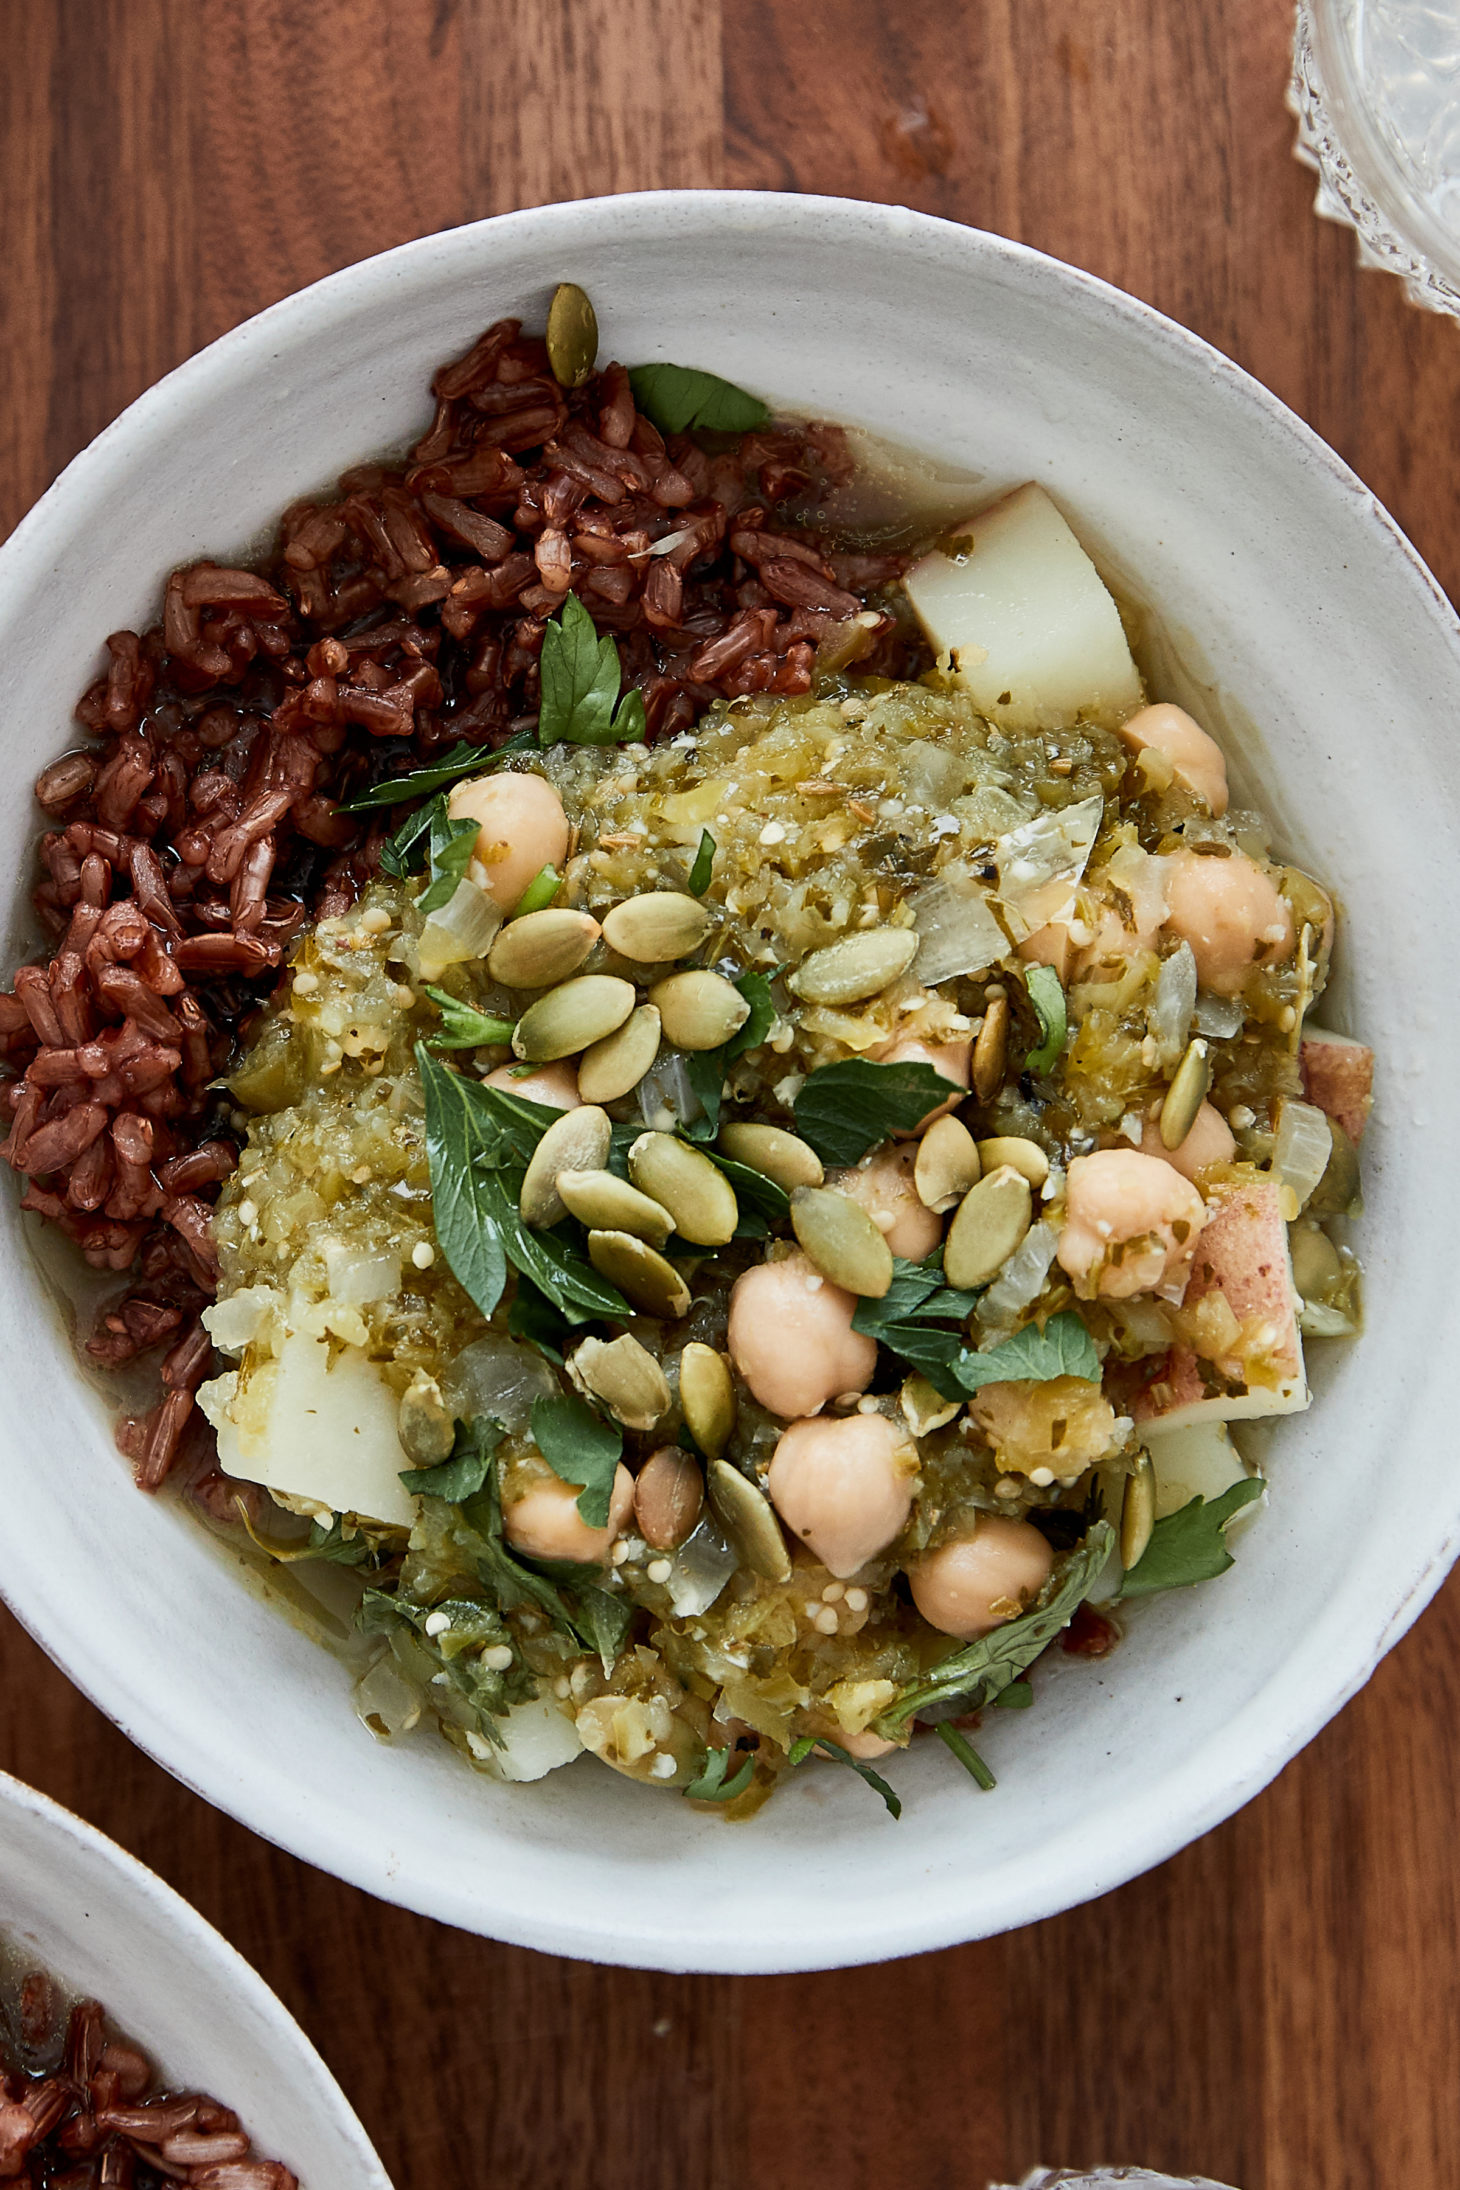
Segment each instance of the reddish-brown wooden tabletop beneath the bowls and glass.
[[[0,0],[0,523],[302,283],[556,197],[900,199],[1149,298],[1460,587],[1460,328],[1311,212],[1283,0]],[[2,675],[2,664],[0,664]],[[1092,1907],[659,1978],[368,1901],[175,1787],[0,1616],[0,1763],[282,1993],[398,2190],[983,2190],[1035,2159],[1460,2186],[1460,1588],[1261,1800]]]

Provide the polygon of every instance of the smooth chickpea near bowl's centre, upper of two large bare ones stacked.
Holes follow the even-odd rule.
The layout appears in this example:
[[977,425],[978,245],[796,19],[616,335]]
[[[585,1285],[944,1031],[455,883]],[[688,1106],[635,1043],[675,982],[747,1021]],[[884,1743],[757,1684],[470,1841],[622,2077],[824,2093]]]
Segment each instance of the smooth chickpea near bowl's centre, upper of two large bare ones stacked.
[[792,1421],[838,1391],[867,1391],[878,1340],[851,1329],[856,1296],[806,1255],[762,1261],[735,1279],[729,1353],[762,1406]]

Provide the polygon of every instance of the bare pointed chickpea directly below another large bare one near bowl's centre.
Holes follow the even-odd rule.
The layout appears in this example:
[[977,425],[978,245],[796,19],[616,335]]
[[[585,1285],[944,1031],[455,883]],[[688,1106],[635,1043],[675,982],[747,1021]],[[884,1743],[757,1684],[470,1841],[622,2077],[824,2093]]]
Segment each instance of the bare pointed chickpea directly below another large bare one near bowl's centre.
[[838,1581],[902,1533],[917,1448],[887,1415],[792,1421],[766,1476],[775,1511]]

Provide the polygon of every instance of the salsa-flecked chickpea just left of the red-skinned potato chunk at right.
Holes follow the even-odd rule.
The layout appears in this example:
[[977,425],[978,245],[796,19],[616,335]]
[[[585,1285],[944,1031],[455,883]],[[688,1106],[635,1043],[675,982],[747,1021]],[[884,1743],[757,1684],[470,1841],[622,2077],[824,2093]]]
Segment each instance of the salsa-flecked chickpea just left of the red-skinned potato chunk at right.
[[1055,1253],[1081,1299],[1184,1290],[1206,1202],[1164,1156],[1136,1148],[1075,1156],[1064,1211]]

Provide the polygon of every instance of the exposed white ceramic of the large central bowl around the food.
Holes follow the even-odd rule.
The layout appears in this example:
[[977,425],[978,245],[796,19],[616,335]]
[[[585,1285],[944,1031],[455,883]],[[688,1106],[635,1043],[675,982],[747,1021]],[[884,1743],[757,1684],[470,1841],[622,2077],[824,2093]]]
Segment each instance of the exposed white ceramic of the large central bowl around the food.
[[142,396],[0,554],[0,817],[22,935],[22,786],[72,736],[101,637],[171,565],[427,418],[431,368],[501,313],[591,289],[604,355],[711,366],[987,473],[1046,482],[1158,604],[1204,712],[1261,725],[1287,848],[1342,891],[1340,1025],[1381,1053],[1366,1139],[1368,1334],[1313,1347],[1274,1494],[1224,1581],[1147,1605],[989,1724],[994,1796],[941,1748],[902,1824],[816,1770],[725,1826],[591,1761],[495,1787],[440,1743],[376,1748],[344,1671],[134,1491],[11,1204],[0,1586],[188,1785],[313,1864],[449,1923],[668,1969],[814,1969],[1029,1923],[1160,1862],[1368,1678],[1449,1566],[1456,1294],[1460,631],[1372,495],[1228,359],[1016,243],[841,199],[674,193],[547,206],[405,245],[265,311]]

